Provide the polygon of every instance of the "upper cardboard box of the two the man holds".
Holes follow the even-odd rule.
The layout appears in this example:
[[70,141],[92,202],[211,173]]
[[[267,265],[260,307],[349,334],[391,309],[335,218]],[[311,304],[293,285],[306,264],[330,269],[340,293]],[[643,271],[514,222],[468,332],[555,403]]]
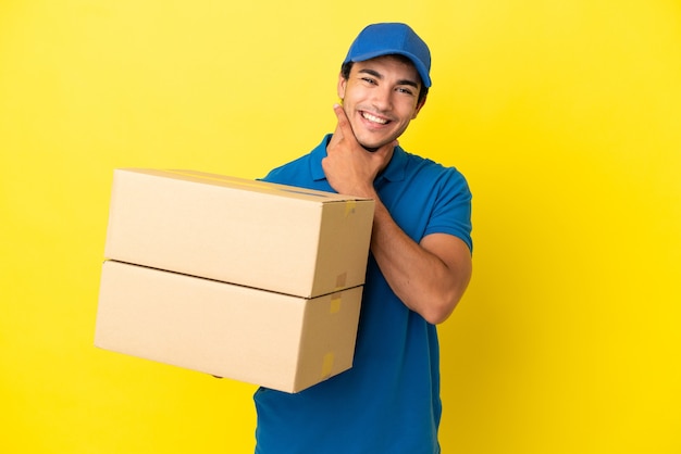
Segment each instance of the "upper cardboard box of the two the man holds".
[[364,282],[374,202],[190,171],[114,172],[104,255],[313,298]]

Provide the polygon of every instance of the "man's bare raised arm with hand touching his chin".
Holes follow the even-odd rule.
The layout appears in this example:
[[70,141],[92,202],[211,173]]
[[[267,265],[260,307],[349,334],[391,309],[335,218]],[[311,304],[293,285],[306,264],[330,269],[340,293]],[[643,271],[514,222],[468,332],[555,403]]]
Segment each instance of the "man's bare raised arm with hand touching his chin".
[[338,125],[322,166],[330,185],[340,193],[375,200],[371,251],[388,285],[410,310],[431,324],[446,320],[471,278],[468,245],[457,237],[433,234],[420,243],[395,223],[373,181],[389,162],[396,142],[369,152],[357,141],[340,106]]

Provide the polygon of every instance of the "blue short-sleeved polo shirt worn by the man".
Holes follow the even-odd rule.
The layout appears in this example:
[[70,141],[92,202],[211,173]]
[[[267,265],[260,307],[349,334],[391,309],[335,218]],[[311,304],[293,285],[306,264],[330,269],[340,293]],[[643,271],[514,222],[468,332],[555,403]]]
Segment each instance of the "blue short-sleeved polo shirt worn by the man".
[[[333,191],[321,164],[330,138],[264,180]],[[457,169],[397,147],[374,186],[416,242],[449,234],[472,250],[471,193]],[[439,453],[436,327],[404,305],[370,254],[352,368],[297,394],[260,388],[253,399],[257,454]]]

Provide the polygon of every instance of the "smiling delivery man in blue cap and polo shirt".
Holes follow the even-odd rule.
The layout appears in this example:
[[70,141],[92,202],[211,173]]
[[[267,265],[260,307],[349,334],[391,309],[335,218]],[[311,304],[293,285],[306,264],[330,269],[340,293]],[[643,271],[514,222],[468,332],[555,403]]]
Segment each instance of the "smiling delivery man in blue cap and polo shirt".
[[298,394],[259,389],[256,453],[439,453],[435,325],[470,280],[471,194],[458,171],[397,143],[423,108],[430,66],[409,26],[364,28],[338,77],[334,134],[264,178],[376,207],[354,366]]

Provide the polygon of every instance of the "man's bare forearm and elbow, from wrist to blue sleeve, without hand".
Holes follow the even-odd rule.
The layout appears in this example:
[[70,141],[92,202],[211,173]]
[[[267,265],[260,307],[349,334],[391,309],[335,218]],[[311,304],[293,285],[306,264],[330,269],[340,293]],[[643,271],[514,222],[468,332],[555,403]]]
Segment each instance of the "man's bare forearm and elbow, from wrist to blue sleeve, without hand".
[[426,237],[429,241],[422,244],[414,242],[380,199],[375,200],[371,251],[385,279],[403,303],[428,321],[446,320],[470,280],[468,248],[447,235]]

